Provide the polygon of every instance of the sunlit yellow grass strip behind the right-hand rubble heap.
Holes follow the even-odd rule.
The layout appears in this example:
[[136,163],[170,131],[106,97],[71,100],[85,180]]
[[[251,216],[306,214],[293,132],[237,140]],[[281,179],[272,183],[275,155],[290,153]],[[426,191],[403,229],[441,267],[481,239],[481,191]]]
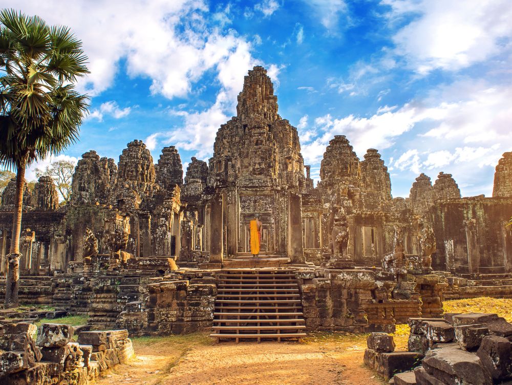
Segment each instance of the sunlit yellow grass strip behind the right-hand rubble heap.
[[496,313],[512,322],[512,298],[478,297],[443,302],[445,313]]

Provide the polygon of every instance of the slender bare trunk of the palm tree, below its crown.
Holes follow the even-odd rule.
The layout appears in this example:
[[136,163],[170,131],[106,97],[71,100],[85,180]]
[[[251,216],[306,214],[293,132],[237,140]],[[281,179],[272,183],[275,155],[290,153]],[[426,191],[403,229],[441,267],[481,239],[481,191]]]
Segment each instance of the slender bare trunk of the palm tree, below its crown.
[[18,306],[19,258],[22,256],[22,254],[19,253],[19,235],[22,230],[24,187],[25,162],[18,164],[16,171],[16,201],[12,217],[11,249],[9,255],[7,255],[9,268],[7,270],[5,309]]

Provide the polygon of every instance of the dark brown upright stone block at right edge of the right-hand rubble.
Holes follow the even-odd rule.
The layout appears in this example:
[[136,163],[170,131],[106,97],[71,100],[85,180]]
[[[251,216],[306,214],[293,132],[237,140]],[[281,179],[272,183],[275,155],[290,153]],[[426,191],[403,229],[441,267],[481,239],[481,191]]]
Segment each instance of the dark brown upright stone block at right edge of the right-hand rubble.
[[512,377],[512,343],[504,337],[483,337],[477,356],[494,380]]

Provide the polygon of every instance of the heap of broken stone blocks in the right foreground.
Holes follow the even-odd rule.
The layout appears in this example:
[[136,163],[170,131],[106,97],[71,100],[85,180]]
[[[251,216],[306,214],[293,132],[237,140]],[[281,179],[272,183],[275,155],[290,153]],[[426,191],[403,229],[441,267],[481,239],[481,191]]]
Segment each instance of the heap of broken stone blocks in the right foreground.
[[[394,385],[512,384],[512,324],[497,314],[411,318],[408,352],[393,337],[372,333],[365,364]],[[393,354],[403,355],[402,359]],[[407,354],[416,355],[416,360]]]

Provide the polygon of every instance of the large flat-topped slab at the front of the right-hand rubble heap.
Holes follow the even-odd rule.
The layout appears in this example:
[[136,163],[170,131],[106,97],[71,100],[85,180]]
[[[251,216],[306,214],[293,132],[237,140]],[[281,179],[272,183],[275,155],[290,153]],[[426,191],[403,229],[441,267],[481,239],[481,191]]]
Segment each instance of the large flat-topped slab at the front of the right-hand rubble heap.
[[423,359],[423,368],[431,376],[448,384],[491,385],[492,378],[480,358],[461,349],[430,350]]

